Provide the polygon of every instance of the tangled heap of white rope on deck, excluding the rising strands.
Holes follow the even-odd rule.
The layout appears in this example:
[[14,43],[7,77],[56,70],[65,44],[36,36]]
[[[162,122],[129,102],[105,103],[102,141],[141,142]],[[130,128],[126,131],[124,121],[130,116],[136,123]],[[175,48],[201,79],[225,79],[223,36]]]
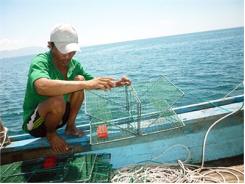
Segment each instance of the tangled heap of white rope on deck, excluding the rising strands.
[[[135,172],[135,170],[141,172]],[[227,169],[227,168],[225,168]],[[207,170],[191,170],[186,166],[171,167],[164,165],[142,165],[128,168],[123,170],[120,174],[117,172],[112,178],[111,182],[123,183],[147,183],[147,182],[164,182],[164,183],[202,183],[202,182],[215,182],[226,183],[227,174],[234,176],[237,183],[240,182],[239,176],[229,169],[213,169]],[[226,174],[226,176],[224,175]],[[243,176],[243,174],[242,174]]]

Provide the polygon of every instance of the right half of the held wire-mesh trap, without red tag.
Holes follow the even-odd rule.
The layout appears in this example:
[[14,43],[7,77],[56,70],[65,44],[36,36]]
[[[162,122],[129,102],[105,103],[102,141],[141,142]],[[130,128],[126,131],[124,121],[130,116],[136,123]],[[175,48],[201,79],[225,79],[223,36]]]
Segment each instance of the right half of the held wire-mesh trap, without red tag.
[[141,134],[166,131],[184,126],[172,106],[184,93],[165,76],[156,81],[139,85],[141,101]]

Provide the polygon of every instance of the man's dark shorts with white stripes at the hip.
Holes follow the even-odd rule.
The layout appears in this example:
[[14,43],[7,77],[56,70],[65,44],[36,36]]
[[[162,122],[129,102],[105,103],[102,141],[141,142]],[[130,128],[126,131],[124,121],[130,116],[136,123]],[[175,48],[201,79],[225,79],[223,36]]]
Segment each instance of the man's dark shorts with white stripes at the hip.
[[[67,102],[66,110],[62,118],[62,122],[57,126],[56,129],[63,127],[67,123],[69,114],[70,114],[70,103]],[[38,113],[38,111],[34,111],[31,117],[34,118],[34,121],[33,121],[34,127],[32,130],[29,131],[29,133],[33,137],[46,137],[47,128],[45,126],[45,120],[42,117],[40,117],[40,114]]]

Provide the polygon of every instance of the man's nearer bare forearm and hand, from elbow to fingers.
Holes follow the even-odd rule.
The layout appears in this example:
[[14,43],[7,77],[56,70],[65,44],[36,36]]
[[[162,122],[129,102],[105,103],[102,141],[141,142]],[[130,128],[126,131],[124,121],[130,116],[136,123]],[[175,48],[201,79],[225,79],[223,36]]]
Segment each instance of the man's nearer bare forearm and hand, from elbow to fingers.
[[89,81],[64,81],[40,78],[34,82],[39,95],[59,96],[83,89],[111,89],[115,82],[109,77],[98,77]]

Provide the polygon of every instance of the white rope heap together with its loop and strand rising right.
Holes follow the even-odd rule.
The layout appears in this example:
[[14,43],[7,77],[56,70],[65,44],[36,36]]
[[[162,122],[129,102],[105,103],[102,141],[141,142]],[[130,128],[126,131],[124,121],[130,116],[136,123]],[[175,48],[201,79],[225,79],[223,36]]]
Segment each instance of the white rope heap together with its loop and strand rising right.
[[[244,175],[242,171],[228,167],[204,167],[205,161],[205,149],[206,141],[211,129],[220,123],[225,118],[239,112],[243,105],[236,111],[233,111],[224,117],[215,121],[207,130],[202,147],[202,163],[201,166],[184,164],[190,158],[190,150],[185,145],[176,144],[169,147],[159,156],[154,157],[152,161],[155,161],[162,157],[167,151],[174,147],[184,147],[188,151],[188,156],[185,161],[178,160],[176,164],[151,164],[151,165],[131,165],[123,169],[116,171],[112,177],[111,182],[123,182],[123,183],[146,183],[146,182],[163,182],[163,183],[203,183],[203,182],[214,182],[214,183],[226,183],[226,177],[223,174],[229,174],[234,176],[237,183],[240,182],[239,175]],[[214,177],[214,174],[216,174]],[[217,176],[219,176],[217,178]]]

